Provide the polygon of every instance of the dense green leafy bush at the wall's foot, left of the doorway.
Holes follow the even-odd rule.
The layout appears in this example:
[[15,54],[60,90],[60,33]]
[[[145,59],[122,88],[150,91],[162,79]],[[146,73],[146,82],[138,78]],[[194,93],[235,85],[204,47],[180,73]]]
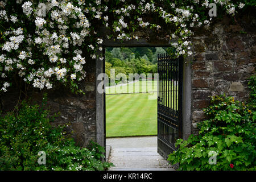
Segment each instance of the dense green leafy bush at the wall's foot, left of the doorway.
[[[64,127],[52,128],[49,111],[42,106],[22,102],[18,114],[0,117],[1,170],[104,170],[104,148],[91,142],[88,148],[75,146]],[[46,164],[39,164],[39,151],[46,152]]]

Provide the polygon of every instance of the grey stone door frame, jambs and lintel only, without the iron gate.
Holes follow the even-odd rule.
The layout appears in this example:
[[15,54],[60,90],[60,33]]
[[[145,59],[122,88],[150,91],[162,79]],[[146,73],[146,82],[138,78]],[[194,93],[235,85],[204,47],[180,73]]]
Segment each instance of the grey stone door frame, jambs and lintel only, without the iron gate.
[[[152,43],[147,40],[129,40],[123,42],[114,42],[112,40],[104,40],[102,51],[98,51],[96,60],[96,88],[100,86],[102,77],[98,77],[105,72],[105,60],[100,60],[105,53],[105,47],[168,47],[168,42]],[[187,64],[188,63],[188,64]],[[183,139],[187,139],[191,134],[191,65],[188,61],[184,61],[183,65]],[[96,141],[106,148],[106,103],[105,93],[96,93]]]

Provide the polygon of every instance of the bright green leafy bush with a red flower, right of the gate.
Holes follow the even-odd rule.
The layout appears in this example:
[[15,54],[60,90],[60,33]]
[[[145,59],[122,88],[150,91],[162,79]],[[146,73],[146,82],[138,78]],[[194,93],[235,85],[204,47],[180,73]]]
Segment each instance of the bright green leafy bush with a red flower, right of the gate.
[[[211,103],[199,135],[178,139],[179,149],[168,160],[180,170],[255,170],[256,111],[233,97],[214,96]],[[213,155],[216,164],[209,163]]]

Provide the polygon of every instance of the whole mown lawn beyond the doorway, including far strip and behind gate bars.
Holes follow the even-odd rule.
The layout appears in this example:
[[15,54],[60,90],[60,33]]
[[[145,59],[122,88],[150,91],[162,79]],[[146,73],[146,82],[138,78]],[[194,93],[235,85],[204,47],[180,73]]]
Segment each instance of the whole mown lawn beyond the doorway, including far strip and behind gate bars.
[[[129,89],[129,85],[133,89]],[[176,94],[173,92],[172,101],[175,96]],[[156,135],[156,98],[157,81],[137,81],[123,86],[106,88],[106,137]]]

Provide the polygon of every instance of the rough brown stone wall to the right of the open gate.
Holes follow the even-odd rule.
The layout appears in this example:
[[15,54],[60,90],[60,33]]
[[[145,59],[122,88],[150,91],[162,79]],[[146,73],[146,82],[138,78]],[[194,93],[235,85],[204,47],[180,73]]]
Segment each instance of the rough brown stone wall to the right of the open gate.
[[249,97],[248,78],[255,73],[255,16],[225,17],[208,29],[196,30],[192,38],[196,54],[192,61],[192,133],[205,118],[202,111],[209,96],[226,94],[235,100]]

